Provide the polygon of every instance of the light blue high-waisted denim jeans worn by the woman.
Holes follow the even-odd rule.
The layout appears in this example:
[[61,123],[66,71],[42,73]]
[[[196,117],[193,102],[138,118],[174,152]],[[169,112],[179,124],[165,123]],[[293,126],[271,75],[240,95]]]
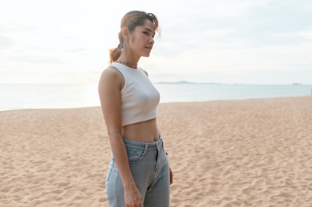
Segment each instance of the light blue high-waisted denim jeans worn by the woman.
[[[169,164],[160,139],[143,143],[123,139],[132,176],[142,195],[142,207],[169,207]],[[106,179],[106,195],[109,207],[125,207],[124,187],[114,156]]]

